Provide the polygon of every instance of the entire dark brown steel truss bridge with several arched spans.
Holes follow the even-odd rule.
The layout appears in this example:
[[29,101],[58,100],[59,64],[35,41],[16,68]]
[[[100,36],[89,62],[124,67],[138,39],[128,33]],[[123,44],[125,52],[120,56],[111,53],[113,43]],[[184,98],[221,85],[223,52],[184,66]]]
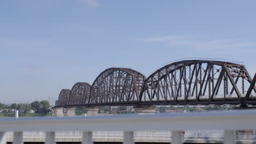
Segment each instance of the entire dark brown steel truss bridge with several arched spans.
[[173,62],[146,77],[129,68],[109,68],[92,85],[62,89],[55,107],[114,105],[256,105],[256,74],[245,65],[214,60]]

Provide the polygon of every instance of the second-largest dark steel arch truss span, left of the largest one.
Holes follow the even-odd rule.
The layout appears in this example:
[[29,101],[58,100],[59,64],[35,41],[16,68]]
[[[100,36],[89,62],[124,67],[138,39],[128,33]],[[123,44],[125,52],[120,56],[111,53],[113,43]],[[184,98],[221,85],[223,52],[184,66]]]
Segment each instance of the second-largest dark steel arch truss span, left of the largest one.
[[90,104],[137,103],[146,77],[128,68],[104,70],[91,86]]

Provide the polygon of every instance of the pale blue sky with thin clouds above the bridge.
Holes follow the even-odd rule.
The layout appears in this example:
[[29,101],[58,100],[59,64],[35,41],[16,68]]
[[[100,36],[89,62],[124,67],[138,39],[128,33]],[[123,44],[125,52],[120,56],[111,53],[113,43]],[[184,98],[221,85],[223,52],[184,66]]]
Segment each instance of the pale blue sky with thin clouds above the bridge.
[[48,100],[110,67],[148,76],[179,58],[256,72],[256,1],[0,1],[2,103]]

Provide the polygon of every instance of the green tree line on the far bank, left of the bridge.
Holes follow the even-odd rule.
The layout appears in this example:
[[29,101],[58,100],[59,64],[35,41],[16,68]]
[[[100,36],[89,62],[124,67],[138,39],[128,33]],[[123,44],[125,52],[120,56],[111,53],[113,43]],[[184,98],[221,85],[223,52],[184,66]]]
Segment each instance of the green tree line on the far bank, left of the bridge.
[[48,113],[49,107],[48,100],[34,101],[33,103],[13,103],[10,106],[0,103],[0,109],[34,110],[35,113]]

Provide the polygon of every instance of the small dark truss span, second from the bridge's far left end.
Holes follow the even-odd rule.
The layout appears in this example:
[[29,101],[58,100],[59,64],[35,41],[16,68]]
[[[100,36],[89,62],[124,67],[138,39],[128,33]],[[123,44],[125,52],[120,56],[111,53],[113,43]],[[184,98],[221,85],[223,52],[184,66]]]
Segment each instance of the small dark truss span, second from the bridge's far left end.
[[86,82],[75,83],[71,89],[68,105],[85,105],[89,103],[91,85]]

